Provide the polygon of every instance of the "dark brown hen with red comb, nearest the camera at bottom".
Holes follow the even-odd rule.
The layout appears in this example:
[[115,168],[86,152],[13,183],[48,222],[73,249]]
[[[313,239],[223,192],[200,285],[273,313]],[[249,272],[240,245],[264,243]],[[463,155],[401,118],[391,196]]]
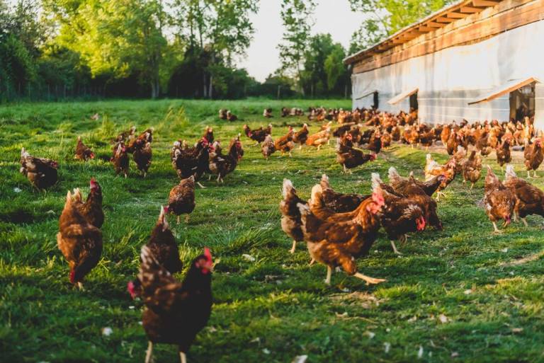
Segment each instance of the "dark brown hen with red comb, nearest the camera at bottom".
[[147,246],[142,248],[140,258],[138,277],[146,308],[142,325],[149,340],[145,363],[152,362],[153,345],[157,343],[177,345],[181,363],[186,363],[186,353],[212,312],[210,250],[205,248],[204,253],[193,260],[183,282],[174,279]]

